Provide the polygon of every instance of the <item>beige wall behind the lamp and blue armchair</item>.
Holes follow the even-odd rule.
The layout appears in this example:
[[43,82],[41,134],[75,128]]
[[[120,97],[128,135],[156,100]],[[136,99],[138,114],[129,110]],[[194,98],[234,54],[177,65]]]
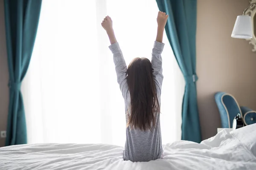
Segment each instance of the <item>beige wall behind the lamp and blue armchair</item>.
[[214,94],[233,94],[256,110],[256,53],[246,40],[231,38],[236,16],[249,0],[198,0],[197,91],[203,139],[221,127]]

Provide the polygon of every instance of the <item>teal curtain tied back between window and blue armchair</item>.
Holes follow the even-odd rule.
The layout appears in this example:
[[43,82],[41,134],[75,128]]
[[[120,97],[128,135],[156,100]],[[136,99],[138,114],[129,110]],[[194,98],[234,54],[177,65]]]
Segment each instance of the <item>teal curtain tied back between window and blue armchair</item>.
[[157,0],[160,11],[166,12],[166,34],[186,81],[182,104],[182,140],[201,142],[198,116],[195,68],[195,34],[197,0]]

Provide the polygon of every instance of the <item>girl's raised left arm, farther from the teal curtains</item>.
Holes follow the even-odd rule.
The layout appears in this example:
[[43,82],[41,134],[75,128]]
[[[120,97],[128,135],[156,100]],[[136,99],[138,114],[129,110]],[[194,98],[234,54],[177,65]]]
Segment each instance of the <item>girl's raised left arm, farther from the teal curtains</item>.
[[111,45],[109,46],[112,54],[113,60],[116,69],[117,82],[120,86],[120,90],[124,99],[128,100],[128,84],[127,84],[127,66],[125,64],[125,59],[122,55],[122,51],[119,47],[118,42],[116,41],[116,37],[112,27],[111,17],[107,16],[102,21],[102,27],[106,30]]

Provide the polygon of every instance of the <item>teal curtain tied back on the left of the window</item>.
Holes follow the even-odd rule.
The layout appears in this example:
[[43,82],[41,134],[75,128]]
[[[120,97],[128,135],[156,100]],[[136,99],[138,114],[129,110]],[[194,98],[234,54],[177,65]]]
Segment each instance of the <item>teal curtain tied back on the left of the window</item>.
[[29,67],[42,0],[4,0],[9,66],[6,146],[26,144],[26,119],[20,85]]

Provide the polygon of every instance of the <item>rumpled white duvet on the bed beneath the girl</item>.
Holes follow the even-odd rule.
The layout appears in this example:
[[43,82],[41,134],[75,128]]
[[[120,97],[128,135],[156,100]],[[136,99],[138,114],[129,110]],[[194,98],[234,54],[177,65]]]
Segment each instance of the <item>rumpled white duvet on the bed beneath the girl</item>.
[[155,161],[124,161],[123,150],[109,144],[0,147],[0,170],[256,170],[256,124],[222,130],[201,144],[167,144]]

